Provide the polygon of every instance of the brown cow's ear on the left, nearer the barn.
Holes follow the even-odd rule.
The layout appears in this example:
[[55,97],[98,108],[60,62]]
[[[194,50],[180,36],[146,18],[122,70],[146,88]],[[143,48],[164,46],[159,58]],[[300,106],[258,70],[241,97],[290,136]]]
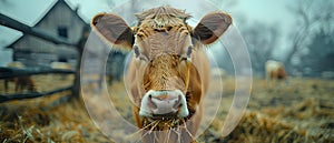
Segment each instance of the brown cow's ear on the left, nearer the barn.
[[132,49],[135,37],[131,28],[118,16],[100,13],[92,18],[91,28],[99,37],[128,50]]

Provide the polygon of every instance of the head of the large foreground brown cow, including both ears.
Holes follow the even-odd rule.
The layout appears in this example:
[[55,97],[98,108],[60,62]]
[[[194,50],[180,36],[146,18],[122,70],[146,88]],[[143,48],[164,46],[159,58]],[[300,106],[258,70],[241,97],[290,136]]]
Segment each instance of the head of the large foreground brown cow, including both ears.
[[[184,11],[168,7],[137,14],[132,29],[118,16],[101,13],[92,29],[120,49],[134,51],[139,115],[146,119],[187,119],[200,102],[202,80],[194,55],[203,44],[215,42],[229,27],[223,12],[206,14],[193,29]],[[209,73],[207,73],[209,74]]]

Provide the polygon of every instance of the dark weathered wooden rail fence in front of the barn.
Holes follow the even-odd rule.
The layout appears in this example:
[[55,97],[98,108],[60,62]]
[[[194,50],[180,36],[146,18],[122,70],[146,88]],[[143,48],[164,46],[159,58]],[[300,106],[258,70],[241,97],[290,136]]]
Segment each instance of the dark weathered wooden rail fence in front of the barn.
[[14,68],[0,68],[0,80],[2,79],[9,79],[9,78],[16,78],[16,76],[22,76],[22,75],[36,75],[36,74],[49,74],[49,73],[58,73],[58,74],[75,74],[73,84],[70,86],[60,88],[53,91],[42,92],[42,93],[23,93],[23,94],[0,94],[0,103],[12,101],[12,100],[22,100],[22,99],[32,99],[32,98],[39,98],[39,96],[47,96],[52,95],[55,93],[63,92],[63,91],[71,91],[72,95],[77,99],[80,96],[80,61],[81,61],[81,54],[82,49],[85,45],[85,41],[87,38],[81,37],[81,39],[77,43],[71,43],[67,41],[66,39],[62,39],[60,37],[53,35],[51,33],[45,32],[41,29],[29,27],[27,24],[23,24],[17,20],[13,20],[4,14],[0,13],[0,24],[21,31],[24,34],[31,34],[35,37],[38,37],[40,39],[43,39],[46,41],[52,42],[55,44],[65,44],[70,45],[78,50],[79,57],[78,57],[78,67],[75,71],[70,70],[55,70],[55,69],[14,69]]

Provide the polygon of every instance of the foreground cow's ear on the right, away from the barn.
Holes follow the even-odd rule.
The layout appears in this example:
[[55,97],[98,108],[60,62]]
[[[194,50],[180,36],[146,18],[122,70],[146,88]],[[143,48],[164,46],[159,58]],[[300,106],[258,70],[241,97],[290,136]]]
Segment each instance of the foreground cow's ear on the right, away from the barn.
[[193,37],[204,44],[215,42],[232,24],[232,18],[224,12],[206,14],[193,31]]

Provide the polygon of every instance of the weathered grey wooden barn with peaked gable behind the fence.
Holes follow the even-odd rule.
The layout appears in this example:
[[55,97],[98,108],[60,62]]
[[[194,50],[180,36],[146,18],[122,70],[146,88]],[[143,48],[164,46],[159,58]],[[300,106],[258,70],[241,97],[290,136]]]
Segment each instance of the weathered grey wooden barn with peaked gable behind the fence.
[[[14,2],[12,4],[21,4]],[[71,43],[77,43],[85,27],[88,25],[79,14],[78,8],[65,0],[51,3],[41,12],[33,28],[42,32],[58,35]],[[69,45],[53,44],[30,34],[22,34],[7,48],[12,49],[12,60],[20,61],[27,67],[49,67],[51,62],[69,62],[75,68],[77,64],[77,49]]]

